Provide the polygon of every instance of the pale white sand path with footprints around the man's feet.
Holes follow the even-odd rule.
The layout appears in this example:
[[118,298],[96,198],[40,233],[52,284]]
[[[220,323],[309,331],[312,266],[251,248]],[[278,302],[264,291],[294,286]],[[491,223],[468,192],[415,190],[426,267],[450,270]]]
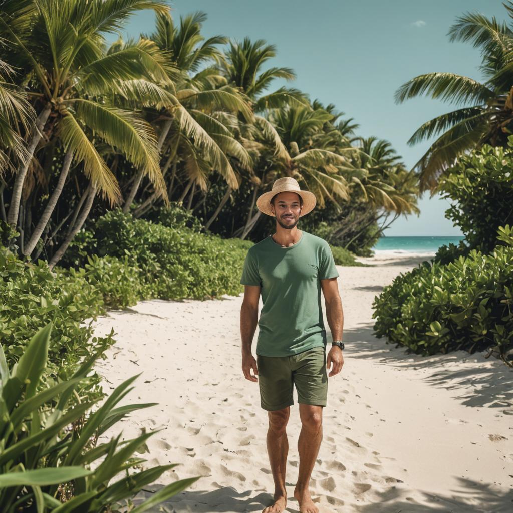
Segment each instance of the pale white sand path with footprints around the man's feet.
[[[513,371],[484,353],[421,357],[373,337],[374,296],[422,259],[409,253],[360,260],[378,265],[339,266],[345,364],[329,378],[314,502],[321,512],[510,512]],[[142,372],[124,403],[159,403],[109,434],[120,426],[124,438],[164,428],[142,455],[146,466],[180,463],[159,483],[203,476],[164,511],[260,511],[270,503],[267,413],[258,384],[241,370],[241,303],[242,294],[143,301],[95,324],[98,335],[116,332],[109,358],[97,366],[104,389]],[[301,425],[298,405],[291,410],[287,510],[298,512],[292,492]]]

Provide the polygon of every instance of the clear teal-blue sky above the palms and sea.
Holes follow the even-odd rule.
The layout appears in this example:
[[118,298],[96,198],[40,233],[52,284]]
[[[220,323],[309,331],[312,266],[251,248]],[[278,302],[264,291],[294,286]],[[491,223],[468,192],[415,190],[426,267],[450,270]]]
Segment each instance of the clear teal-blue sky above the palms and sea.
[[[432,71],[482,80],[479,50],[469,43],[451,43],[449,27],[458,16],[474,11],[510,21],[500,0],[176,0],[170,5],[176,21],[180,15],[206,12],[207,37],[249,36],[274,44],[277,56],[268,65],[292,68],[297,79],[288,85],[352,117],[360,125],[357,135],[390,141],[408,167],[429,147],[429,142],[408,146],[411,134],[457,107],[429,98],[398,105],[396,89]],[[153,26],[153,12],[142,11],[130,19],[126,33],[137,36]],[[283,83],[273,84],[278,88]],[[460,235],[444,218],[448,207],[446,200],[430,200],[425,193],[419,200],[420,216],[401,216],[385,234]]]

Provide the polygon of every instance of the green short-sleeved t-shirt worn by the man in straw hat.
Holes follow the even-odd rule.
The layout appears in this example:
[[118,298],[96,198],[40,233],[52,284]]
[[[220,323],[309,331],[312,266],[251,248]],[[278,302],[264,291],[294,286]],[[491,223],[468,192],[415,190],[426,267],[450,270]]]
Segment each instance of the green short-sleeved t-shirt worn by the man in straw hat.
[[249,248],[241,283],[261,287],[257,354],[290,356],[326,347],[320,280],[338,276],[329,244],[305,231],[286,248],[270,235]]

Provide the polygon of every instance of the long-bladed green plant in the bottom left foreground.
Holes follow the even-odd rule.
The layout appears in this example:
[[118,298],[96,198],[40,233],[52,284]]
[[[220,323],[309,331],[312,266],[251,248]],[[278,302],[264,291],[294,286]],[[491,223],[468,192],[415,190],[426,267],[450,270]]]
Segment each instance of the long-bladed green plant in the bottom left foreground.
[[[51,324],[39,330],[11,369],[0,346],[2,511],[110,511],[112,504],[135,496],[175,466],[133,472],[135,466],[146,461],[134,457],[134,453],[157,431],[124,441],[120,433],[96,445],[98,437],[128,413],[155,403],[117,406],[131,390],[129,387],[137,377],[134,376],[115,388],[102,406],[88,415],[96,401],[81,400],[79,384],[88,381],[87,374],[100,352],[87,358],[70,379],[48,386],[41,380],[51,348],[50,334]],[[112,482],[120,472],[125,477]],[[142,513],[198,479],[165,486],[131,512]]]

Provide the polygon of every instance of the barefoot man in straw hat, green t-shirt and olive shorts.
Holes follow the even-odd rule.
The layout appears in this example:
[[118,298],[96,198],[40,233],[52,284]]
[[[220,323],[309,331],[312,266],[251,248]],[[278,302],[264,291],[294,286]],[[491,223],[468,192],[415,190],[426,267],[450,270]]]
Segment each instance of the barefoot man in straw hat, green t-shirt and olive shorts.
[[[293,178],[275,181],[272,190],[258,198],[257,207],[276,218],[276,232],[249,249],[241,278],[245,285],[241,307],[242,370],[246,379],[259,383],[261,406],[267,410],[269,419],[267,452],[274,499],[264,513],[281,513],[287,502],[285,428],[293,404],[292,384],[298,393],[302,423],[294,497],[301,513],[318,513],[308,485],[322,440],[322,411],[328,387],[326,368],[331,367],[329,376],[334,376],[344,364],[339,273],[331,249],[323,239],[297,228],[299,218],[316,203],[314,194],[301,190]],[[327,358],[321,289],[333,340]],[[260,293],[263,307],[258,319]],[[255,360],[251,342],[257,321]]]

